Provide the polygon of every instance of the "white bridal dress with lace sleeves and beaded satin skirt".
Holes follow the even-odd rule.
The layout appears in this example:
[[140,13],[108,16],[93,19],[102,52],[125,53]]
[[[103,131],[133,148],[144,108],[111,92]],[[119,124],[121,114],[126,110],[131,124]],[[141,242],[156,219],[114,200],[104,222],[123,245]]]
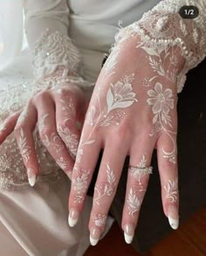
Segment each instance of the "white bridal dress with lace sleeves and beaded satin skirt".
[[[39,84],[45,85],[40,80],[58,66],[64,67],[64,75],[70,71],[79,73],[81,86],[93,86],[120,26],[138,21],[159,2],[25,0],[25,31],[30,50],[18,54],[0,72],[0,124],[24,107],[41,89]],[[196,3],[192,0],[163,2],[165,8],[159,5],[157,10],[163,11],[165,16],[175,15],[174,3],[177,7]],[[194,27],[203,37],[191,39],[192,35],[185,35],[185,38],[181,35],[182,41],[188,38],[196,43],[198,57],[190,62],[185,57],[188,61],[183,75],[205,57],[205,0],[198,1],[198,7],[201,15],[194,20]],[[4,47],[6,51],[6,45]],[[186,44],[185,47],[194,48],[194,45]],[[34,137],[41,167],[34,187],[28,184],[14,135],[0,146],[0,255],[83,255],[89,246],[87,225],[92,198],[87,197],[86,209],[78,225],[70,228],[67,224],[70,181],[49,156],[38,139],[37,130]]]

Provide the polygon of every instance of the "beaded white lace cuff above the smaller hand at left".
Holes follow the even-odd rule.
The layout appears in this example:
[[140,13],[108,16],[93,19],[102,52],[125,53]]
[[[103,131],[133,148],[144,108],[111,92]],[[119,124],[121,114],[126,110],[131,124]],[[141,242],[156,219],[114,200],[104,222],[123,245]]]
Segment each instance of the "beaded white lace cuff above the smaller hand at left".
[[35,80],[40,80],[51,75],[59,66],[64,66],[66,74],[79,73],[82,59],[71,38],[60,31],[50,33],[47,29],[35,44],[32,64]]

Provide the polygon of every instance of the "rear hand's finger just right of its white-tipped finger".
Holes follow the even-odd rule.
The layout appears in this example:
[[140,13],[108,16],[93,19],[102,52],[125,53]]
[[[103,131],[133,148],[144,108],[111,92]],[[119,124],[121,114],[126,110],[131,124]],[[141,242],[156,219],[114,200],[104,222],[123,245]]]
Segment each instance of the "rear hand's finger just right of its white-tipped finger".
[[49,94],[42,94],[37,102],[40,139],[58,166],[71,178],[73,160],[57,132],[54,102]]

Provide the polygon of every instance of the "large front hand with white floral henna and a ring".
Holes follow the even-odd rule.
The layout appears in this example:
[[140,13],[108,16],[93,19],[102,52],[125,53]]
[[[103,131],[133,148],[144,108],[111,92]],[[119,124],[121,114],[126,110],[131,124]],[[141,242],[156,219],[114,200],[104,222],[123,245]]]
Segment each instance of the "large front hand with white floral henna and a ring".
[[134,167],[128,169],[121,224],[127,243],[134,237],[151,173],[145,168],[150,166],[154,149],[163,210],[170,225],[174,229],[178,226],[176,77],[182,66],[179,48],[158,52],[141,44],[138,37],[122,40],[106,60],[87,110],[69,198],[69,224],[73,226],[83,211],[86,190],[103,148],[89,222],[93,246],[104,231],[127,155]]

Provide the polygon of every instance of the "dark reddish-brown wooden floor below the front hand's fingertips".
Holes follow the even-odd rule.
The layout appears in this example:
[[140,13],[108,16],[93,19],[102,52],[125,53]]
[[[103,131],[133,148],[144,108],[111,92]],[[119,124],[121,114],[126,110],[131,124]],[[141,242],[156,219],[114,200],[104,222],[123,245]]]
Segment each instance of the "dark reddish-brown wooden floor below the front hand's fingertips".
[[[139,256],[128,246],[114,224],[105,239],[97,246],[90,246],[84,256]],[[206,256],[206,206],[184,223],[177,231],[171,232],[144,256]]]

